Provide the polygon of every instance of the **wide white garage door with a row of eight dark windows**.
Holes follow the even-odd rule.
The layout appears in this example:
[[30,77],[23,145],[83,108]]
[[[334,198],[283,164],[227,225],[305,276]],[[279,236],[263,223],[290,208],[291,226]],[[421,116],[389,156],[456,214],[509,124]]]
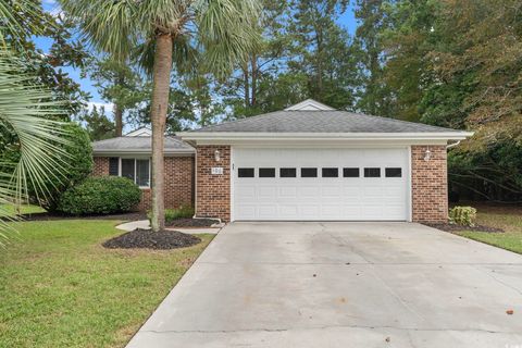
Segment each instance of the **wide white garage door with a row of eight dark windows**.
[[408,149],[233,149],[234,220],[408,220]]

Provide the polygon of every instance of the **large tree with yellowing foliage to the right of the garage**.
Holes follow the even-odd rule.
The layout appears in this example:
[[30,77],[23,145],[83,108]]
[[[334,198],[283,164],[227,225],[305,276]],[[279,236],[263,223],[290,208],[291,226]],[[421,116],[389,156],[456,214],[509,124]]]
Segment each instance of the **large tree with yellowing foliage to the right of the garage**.
[[[476,132],[449,152],[450,188],[462,198],[522,200],[513,158],[522,136],[520,10],[511,0],[363,1],[357,10],[358,36],[371,33],[378,44],[362,50],[381,59],[378,82],[393,91],[372,94],[375,105],[388,104],[388,116]],[[361,88],[364,110],[371,79]]]

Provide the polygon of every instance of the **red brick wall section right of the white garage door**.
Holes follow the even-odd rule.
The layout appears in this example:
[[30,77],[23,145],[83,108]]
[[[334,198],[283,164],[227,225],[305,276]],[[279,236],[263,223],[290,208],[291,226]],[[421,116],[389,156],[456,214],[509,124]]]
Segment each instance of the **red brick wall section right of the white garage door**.
[[[432,152],[424,161],[426,149]],[[412,219],[414,222],[447,222],[448,172],[446,146],[411,147]]]

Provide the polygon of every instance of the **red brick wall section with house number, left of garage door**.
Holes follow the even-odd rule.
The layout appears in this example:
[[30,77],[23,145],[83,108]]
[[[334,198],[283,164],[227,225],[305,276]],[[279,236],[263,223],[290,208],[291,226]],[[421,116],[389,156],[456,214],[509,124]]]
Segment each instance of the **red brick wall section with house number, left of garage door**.
[[[220,151],[221,161],[214,158]],[[231,220],[231,147],[199,146],[196,149],[196,215]],[[223,167],[223,174],[212,175],[213,166]]]

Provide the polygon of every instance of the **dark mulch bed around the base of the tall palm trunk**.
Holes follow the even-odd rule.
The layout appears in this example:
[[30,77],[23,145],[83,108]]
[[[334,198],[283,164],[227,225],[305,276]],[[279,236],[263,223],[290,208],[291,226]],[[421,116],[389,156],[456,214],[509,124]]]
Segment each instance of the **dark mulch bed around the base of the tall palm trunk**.
[[201,239],[177,231],[151,232],[136,228],[103,243],[109,249],[156,249],[167,250],[197,245]]

